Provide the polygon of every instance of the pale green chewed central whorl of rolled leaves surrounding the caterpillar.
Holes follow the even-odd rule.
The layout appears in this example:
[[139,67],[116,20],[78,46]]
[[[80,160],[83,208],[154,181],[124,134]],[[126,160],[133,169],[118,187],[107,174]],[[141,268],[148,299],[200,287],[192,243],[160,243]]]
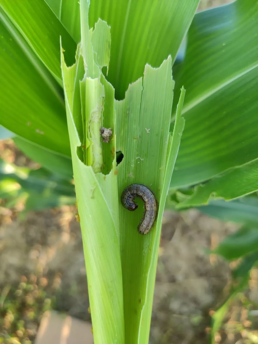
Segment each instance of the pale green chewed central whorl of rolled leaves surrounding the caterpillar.
[[[81,1],[80,8],[82,43],[76,64],[67,67],[62,58],[62,70],[76,198],[92,286],[94,340],[111,343],[119,337],[119,343],[148,343],[161,218],[184,127],[184,89],[173,136],[169,133],[174,88],[171,57],[157,69],[147,65],[143,79],[129,85],[125,99],[115,100],[114,88],[100,70],[108,65],[110,28],[98,21],[94,31],[89,30],[88,2]],[[81,117],[74,108],[78,95]],[[104,124],[112,130],[108,143],[99,135]],[[115,151],[124,155],[117,167]],[[153,173],[146,173],[151,169]],[[159,202],[157,225],[147,236],[137,232],[142,207],[131,213],[118,204],[117,196],[132,183],[150,187]],[[106,298],[100,305],[96,299],[103,293]]]

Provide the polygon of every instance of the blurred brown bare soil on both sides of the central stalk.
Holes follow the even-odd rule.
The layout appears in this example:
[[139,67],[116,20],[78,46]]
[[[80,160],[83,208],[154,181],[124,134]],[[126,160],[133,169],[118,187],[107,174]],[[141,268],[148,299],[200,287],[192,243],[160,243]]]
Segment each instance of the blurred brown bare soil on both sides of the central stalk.
[[[62,207],[31,212],[21,220],[2,209],[0,286],[14,288],[15,295],[25,282],[32,286],[23,295],[29,310],[39,303],[33,291],[43,290],[50,308],[90,321],[82,237],[75,212],[75,207]],[[196,211],[165,213],[151,343],[207,343],[209,311],[223,297],[230,268],[205,249],[234,227]],[[44,300],[42,308],[34,310],[35,318],[40,317],[43,306]],[[39,320],[26,321],[35,334]]]

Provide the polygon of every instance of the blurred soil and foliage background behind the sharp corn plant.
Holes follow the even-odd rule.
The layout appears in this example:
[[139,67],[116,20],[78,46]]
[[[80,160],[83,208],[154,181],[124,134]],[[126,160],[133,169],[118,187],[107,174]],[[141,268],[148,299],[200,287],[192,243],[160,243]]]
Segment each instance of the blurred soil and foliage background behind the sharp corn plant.
[[[0,343],[29,344],[45,310],[90,321],[82,239],[71,166],[42,168],[0,135]],[[258,343],[257,193],[175,212],[193,192],[168,197],[150,343]]]

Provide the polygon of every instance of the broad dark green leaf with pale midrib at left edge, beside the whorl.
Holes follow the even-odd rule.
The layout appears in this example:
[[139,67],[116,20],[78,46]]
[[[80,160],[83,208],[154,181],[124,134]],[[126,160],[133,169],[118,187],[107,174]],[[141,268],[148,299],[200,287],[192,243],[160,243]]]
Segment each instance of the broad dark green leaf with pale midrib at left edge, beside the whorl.
[[0,41],[1,125],[69,156],[62,89],[1,8]]

